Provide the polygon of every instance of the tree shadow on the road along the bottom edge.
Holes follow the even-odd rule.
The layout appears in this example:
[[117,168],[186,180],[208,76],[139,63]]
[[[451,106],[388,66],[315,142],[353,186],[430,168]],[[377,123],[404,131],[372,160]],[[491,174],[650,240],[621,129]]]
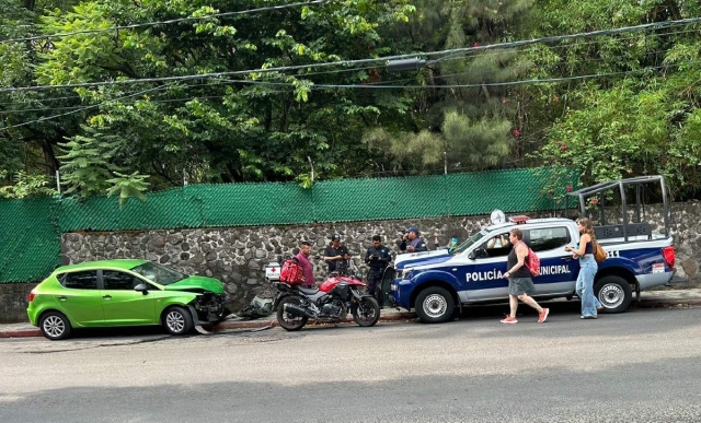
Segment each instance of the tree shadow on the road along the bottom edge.
[[[284,377],[254,381],[249,375],[255,372],[249,369],[230,372],[229,379],[218,383],[192,383],[202,368],[184,365],[172,376],[161,375],[169,381],[156,378],[152,386],[101,384],[0,393],[0,421],[698,422],[700,383],[691,369],[699,359],[616,365],[594,361],[586,371],[547,366],[520,373],[504,368],[501,374],[438,372],[372,381],[354,378],[348,368],[344,381],[334,377],[315,383]],[[290,357],[289,365],[298,360]],[[140,357],[131,365],[134,372],[149,372]],[[510,399],[506,403],[505,392]]]

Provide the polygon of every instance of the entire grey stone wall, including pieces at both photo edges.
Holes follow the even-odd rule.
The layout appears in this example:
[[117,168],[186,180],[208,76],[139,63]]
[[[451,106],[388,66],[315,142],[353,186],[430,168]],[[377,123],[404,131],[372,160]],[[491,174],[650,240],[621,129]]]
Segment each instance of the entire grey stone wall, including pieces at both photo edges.
[[[662,226],[659,208],[646,208],[646,220]],[[535,216],[535,215],[533,215]],[[542,213],[540,216],[549,216]],[[417,225],[430,249],[435,238],[446,245],[451,237],[464,239],[489,225],[489,216],[456,216],[403,221],[349,222],[310,226],[261,226],[208,230],[169,230],[119,233],[67,233],[62,235],[62,263],[111,258],[145,258],[185,273],[220,279],[233,299],[233,309],[248,304],[253,296],[269,297],[273,287],[266,283],[264,268],[297,254],[299,242],[312,243],[312,256],[321,256],[330,235],[342,235],[343,243],[361,265],[372,235],[381,235],[397,254],[404,230]],[[610,222],[609,222],[610,223]],[[677,246],[677,274],[689,283],[676,286],[700,286],[701,273],[701,202],[676,203],[673,207],[671,234]],[[318,280],[325,273],[321,259],[313,260]],[[361,270],[366,271],[361,266]],[[0,285],[0,320],[26,320],[26,295],[33,284]]]

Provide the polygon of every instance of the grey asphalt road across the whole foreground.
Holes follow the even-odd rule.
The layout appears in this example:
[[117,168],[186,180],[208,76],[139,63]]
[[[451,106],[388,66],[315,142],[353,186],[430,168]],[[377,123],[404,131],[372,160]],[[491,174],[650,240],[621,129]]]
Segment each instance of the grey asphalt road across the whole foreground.
[[519,319],[5,339],[0,422],[701,421],[701,308]]

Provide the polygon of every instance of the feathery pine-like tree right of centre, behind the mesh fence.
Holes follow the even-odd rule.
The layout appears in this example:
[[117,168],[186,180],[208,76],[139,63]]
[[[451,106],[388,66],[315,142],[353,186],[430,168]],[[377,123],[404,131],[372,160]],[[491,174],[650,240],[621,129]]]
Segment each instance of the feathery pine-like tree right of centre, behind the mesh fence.
[[[404,39],[411,39],[410,47],[422,51],[499,43],[515,31],[531,3],[528,0],[417,1],[417,13],[410,25],[402,28],[409,32]],[[378,150],[389,143],[395,162],[404,162],[402,166],[394,163],[395,169],[422,171],[437,164],[463,171],[499,167],[509,156],[520,122],[512,92],[498,84],[524,75],[529,66],[528,60],[508,50],[440,57],[413,81],[430,85],[430,90],[405,90],[414,98],[409,125],[413,134],[391,124],[384,128],[378,122],[384,132],[368,130],[364,140]],[[379,137],[382,133],[386,136]],[[407,155],[413,156],[409,163]]]

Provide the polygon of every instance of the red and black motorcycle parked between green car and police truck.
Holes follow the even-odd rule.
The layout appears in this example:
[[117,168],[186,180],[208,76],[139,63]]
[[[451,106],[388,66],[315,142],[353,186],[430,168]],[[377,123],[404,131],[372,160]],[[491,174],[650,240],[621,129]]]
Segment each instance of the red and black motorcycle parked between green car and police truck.
[[348,313],[359,326],[377,324],[380,306],[372,296],[365,294],[367,284],[350,267],[343,273],[331,273],[319,289],[276,282],[278,292],[273,309],[277,309],[277,322],[283,329],[300,330],[310,318],[335,325],[345,320]]

